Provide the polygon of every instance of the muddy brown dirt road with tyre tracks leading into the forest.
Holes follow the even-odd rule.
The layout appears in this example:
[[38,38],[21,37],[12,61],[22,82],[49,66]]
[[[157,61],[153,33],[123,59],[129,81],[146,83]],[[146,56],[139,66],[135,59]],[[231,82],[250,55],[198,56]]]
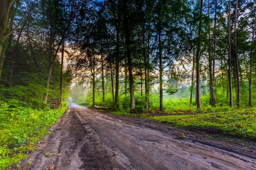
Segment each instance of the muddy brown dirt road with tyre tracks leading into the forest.
[[[253,147],[228,146],[225,140],[207,139],[204,134],[74,103],[52,130],[20,169],[256,170]],[[180,133],[186,137],[177,137]]]

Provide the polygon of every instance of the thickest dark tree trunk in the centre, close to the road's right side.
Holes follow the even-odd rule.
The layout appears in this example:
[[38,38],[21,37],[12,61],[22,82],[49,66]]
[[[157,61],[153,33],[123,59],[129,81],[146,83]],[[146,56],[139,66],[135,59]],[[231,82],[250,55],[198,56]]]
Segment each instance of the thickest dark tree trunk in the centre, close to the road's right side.
[[[127,10],[127,2],[124,2],[124,8]],[[131,100],[131,112],[135,110],[135,97],[134,97],[134,80],[132,73],[132,61],[131,61],[131,42],[130,42],[130,23],[127,11],[124,11],[124,23],[125,23],[125,43],[126,43],[126,55],[128,63],[129,73],[129,88],[130,88],[130,100]]]

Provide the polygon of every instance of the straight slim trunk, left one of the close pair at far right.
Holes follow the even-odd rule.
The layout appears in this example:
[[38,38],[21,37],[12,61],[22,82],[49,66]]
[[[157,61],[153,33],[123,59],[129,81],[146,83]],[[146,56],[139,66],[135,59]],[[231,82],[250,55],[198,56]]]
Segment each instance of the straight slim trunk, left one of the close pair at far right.
[[233,107],[232,97],[232,80],[231,80],[231,25],[230,25],[230,13],[231,13],[231,2],[228,1],[228,82],[229,82],[229,94],[230,94],[230,107]]

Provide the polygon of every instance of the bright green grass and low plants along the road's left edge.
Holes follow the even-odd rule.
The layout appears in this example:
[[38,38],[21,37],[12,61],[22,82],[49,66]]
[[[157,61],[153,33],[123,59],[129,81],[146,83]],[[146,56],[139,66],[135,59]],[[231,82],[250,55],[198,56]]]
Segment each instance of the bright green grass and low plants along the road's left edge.
[[67,110],[67,103],[58,110],[12,108],[0,103],[0,170],[14,164],[18,167],[26,153],[35,150],[34,144],[52,130],[51,127]]

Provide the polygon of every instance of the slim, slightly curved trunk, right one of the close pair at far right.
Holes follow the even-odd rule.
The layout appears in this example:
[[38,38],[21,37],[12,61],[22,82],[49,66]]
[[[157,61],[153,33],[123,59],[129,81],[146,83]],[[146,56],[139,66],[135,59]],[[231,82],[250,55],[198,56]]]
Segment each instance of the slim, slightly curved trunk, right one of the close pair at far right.
[[238,11],[238,0],[236,0],[236,14],[234,21],[234,51],[235,51],[235,61],[236,61],[236,81],[237,81],[237,106],[240,106],[240,78],[239,78],[239,64],[236,48],[236,23],[237,23],[237,11]]

